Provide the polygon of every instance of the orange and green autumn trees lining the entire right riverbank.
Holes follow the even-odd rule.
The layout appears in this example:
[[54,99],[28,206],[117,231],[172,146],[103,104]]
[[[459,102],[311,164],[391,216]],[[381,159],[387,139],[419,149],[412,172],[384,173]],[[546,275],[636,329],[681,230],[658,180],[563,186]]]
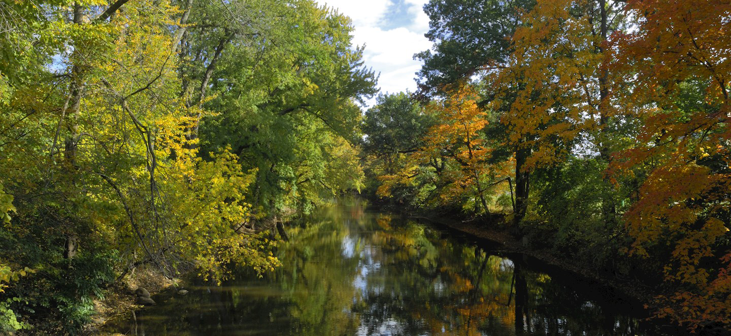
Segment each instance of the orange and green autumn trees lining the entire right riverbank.
[[[435,47],[421,54],[416,96],[431,99],[436,126],[404,178],[383,176],[382,188],[398,180],[415,199],[482,202],[462,208],[502,212],[536,247],[657,286],[657,316],[728,328],[731,3],[497,2],[458,18],[456,2],[428,7]],[[505,12],[517,13],[509,44],[480,30]],[[460,51],[474,44],[461,36],[495,39],[484,42],[491,53]],[[510,189],[493,188],[501,180]],[[513,206],[500,207],[511,182]]]

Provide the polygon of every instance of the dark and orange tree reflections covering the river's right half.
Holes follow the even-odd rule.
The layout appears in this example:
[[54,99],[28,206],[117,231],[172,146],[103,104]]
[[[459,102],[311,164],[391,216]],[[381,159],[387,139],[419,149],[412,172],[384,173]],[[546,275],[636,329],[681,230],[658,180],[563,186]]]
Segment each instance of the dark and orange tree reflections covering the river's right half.
[[[586,302],[522,260],[491,256],[383,216],[372,237],[381,270],[361,313],[368,335],[636,335],[637,321]],[[381,279],[389,279],[380,281]],[[518,316],[518,318],[516,318]]]

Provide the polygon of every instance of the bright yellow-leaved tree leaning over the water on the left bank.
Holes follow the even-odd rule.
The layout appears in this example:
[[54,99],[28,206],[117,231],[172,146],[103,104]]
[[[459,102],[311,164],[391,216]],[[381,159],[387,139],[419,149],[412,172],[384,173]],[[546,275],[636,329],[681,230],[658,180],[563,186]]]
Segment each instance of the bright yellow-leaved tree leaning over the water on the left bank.
[[197,118],[211,112],[179,96],[178,34],[166,28],[178,23],[177,12],[166,2],[128,4],[110,20],[113,52],[87,61],[94,71],[86,74],[77,129],[95,141],[80,142],[76,161],[99,181],[96,196],[124,210],[118,226],[97,227],[132,256],[123,274],[143,263],[170,273],[192,265],[214,280],[227,277],[227,264],[270,270],[279,262],[265,252],[269,242],[243,230],[255,171],[244,172],[230,148],[203,161],[191,145],[197,139],[189,140]]

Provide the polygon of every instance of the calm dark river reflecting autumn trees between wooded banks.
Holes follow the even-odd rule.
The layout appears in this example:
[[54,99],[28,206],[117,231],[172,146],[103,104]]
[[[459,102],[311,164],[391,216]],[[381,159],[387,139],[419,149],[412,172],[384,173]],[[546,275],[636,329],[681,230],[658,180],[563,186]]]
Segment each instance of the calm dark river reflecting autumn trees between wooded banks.
[[[126,335],[659,335],[637,302],[432,224],[326,207],[289,228],[283,266],[112,327]],[[132,315],[132,314],[130,314]]]

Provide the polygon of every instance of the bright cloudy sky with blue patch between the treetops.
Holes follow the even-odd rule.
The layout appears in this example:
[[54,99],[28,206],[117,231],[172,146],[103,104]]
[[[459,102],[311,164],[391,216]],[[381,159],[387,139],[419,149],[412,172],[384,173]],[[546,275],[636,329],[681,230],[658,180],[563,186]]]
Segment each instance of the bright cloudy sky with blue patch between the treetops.
[[[414,53],[431,47],[424,37],[429,18],[422,8],[428,0],[317,0],[353,21],[353,44],[366,45],[365,65],[381,76],[382,93],[416,89],[415,72],[421,68]],[[374,99],[368,102],[372,105]]]

